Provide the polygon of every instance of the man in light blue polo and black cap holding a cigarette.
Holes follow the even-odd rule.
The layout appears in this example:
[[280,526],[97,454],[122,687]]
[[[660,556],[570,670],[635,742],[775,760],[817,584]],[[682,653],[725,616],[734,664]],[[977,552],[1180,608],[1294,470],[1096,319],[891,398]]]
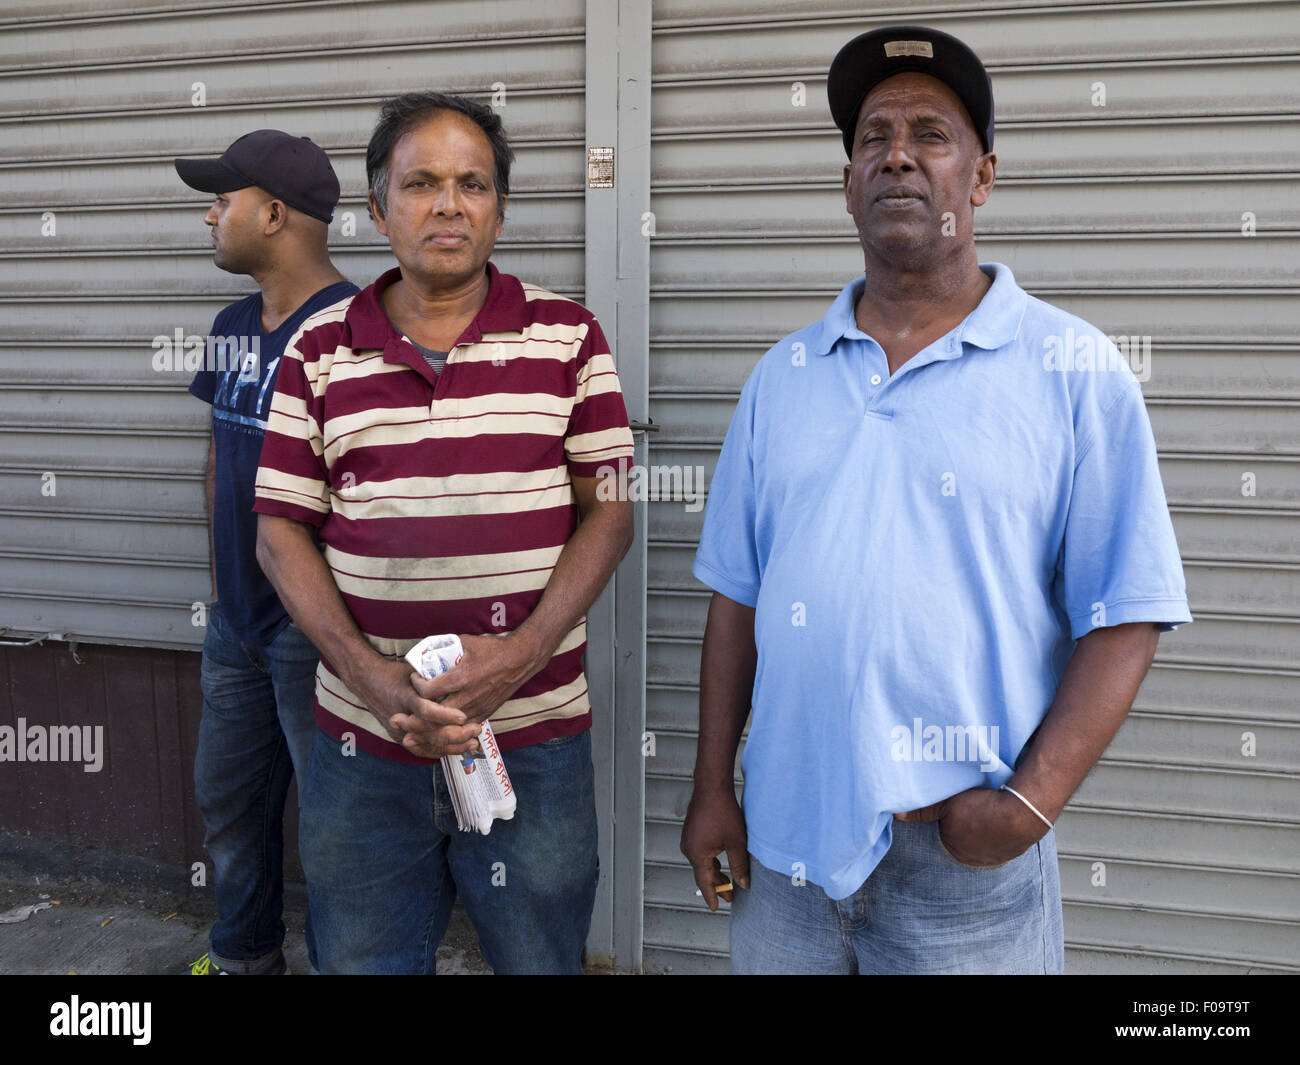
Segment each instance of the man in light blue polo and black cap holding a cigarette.
[[866,269],[723,445],[682,852],[710,908],[727,852],[733,971],[1058,973],[1052,822],[1191,620],[1141,390],[975,255],[974,52],[863,34],[828,92]]

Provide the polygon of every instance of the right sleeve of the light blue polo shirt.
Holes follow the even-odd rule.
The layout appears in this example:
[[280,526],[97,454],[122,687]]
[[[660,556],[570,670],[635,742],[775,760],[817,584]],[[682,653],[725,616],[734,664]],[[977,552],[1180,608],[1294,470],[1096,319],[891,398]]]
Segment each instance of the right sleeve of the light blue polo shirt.
[[1136,381],[1079,427],[1058,593],[1078,640],[1095,628],[1192,620],[1183,563]]

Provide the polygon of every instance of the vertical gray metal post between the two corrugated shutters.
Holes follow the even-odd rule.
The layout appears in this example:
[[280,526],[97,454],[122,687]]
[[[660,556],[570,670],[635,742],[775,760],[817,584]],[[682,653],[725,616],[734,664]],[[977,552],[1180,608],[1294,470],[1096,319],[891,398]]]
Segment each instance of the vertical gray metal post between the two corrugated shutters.
[[[588,0],[586,144],[614,148],[614,187],[586,190],[585,302],[614,347],[629,419],[646,423],[650,241],[642,235],[642,216],[650,209],[650,0]],[[636,462],[645,464],[645,434],[634,440]],[[646,505],[637,503],[632,549],[588,614],[589,635],[614,633],[611,655],[593,661],[597,655],[588,653],[602,870],[588,952],[632,970],[641,967],[644,928],[646,523]]]

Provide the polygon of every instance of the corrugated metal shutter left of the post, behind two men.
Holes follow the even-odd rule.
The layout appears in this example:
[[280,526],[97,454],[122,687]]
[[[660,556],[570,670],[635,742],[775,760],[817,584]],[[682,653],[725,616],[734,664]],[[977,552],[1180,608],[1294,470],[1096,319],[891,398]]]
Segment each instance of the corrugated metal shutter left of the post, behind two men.
[[5,7],[0,627],[196,646],[207,408],[151,342],[205,334],[254,282],[213,267],[211,199],[172,159],[264,126],[311,137],[343,186],[335,265],[365,285],[391,265],[364,200],[378,100],[500,83],[520,191],[495,261],[580,298],[584,0]]

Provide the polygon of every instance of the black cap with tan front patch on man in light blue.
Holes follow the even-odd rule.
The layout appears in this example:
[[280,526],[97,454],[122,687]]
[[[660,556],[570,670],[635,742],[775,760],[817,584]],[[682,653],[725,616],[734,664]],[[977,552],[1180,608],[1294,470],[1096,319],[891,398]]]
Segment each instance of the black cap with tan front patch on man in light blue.
[[871,30],[845,44],[831,64],[826,95],[831,117],[853,157],[853,131],[867,94],[885,78],[919,70],[944,82],[966,105],[984,151],[993,151],[993,83],[984,64],[956,36],[928,26]]

